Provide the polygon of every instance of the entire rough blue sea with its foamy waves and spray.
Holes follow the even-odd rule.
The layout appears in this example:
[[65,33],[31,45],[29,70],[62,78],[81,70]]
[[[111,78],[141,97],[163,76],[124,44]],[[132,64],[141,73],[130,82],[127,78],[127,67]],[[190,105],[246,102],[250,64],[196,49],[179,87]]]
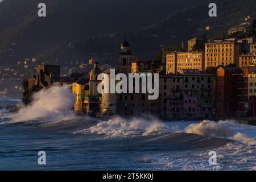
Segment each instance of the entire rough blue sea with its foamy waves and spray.
[[[65,97],[53,107],[58,99],[38,99],[18,113],[0,110],[0,170],[256,170],[256,126],[233,119],[79,117],[60,109],[62,102],[69,106]],[[0,105],[18,102],[0,98]]]

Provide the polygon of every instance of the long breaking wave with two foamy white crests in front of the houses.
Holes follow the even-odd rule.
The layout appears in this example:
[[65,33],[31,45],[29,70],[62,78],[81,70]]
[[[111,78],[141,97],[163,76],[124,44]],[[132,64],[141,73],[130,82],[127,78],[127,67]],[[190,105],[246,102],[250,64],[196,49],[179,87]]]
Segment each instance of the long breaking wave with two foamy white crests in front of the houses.
[[[245,134],[242,134],[240,132],[234,132],[232,127],[230,127],[230,123],[236,122],[232,120],[218,122],[205,120],[200,123],[193,123],[180,130],[177,126],[172,125],[171,122],[169,125],[167,125],[167,123],[164,123],[159,119],[150,116],[131,119],[114,117],[112,119],[109,119],[108,121],[101,121],[95,123],[95,125],[93,126],[75,131],[74,134],[97,134],[104,135],[105,138],[139,136],[157,137],[168,135],[168,139],[166,139],[168,140],[168,142],[176,141],[180,143],[185,141],[188,142],[188,138],[195,139],[195,136],[201,136],[200,138],[196,138],[199,139],[200,142],[210,139],[211,142],[220,142],[220,144],[229,143],[231,142],[231,140],[247,145],[256,144],[254,138],[249,138]],[[220,141],[219,139],[224,140]],[[193,143],[195,142],[196,141],[193,141]],[[215,142],[213,142],[214,145],[217,144]]]

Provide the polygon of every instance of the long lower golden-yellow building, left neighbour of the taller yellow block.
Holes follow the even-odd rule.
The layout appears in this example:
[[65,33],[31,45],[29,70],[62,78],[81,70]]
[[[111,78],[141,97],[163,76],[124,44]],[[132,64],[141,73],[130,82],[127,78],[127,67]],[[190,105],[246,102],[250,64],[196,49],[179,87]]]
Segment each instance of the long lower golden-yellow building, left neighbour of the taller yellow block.
[[166,56],[166,74],[181,73],[183,69],[204,71],[204,52],[178,52]]

